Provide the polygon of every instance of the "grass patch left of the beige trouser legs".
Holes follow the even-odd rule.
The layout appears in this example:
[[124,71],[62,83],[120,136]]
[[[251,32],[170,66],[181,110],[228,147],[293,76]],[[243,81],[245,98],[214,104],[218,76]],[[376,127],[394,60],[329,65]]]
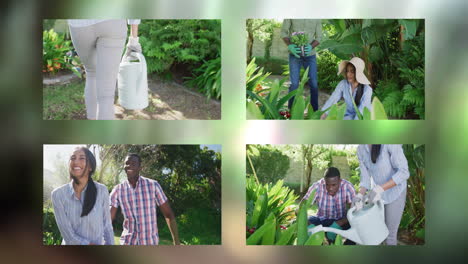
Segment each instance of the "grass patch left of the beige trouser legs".
[[84,82],[43,87],[43,119],[86,119]]

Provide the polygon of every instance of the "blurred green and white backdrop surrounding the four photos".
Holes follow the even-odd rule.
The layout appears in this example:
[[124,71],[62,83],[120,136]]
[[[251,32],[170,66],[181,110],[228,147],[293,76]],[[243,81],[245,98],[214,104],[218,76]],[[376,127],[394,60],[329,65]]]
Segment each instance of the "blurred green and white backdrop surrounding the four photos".
[[[468,3],[393,1],[4,1],[0,253],[5,263],[395,263],[463,261],[468,202]],[[44,18],[222,19],[222,120],[43,121]],[[425,121],[246,121],[247,18],[424,18]],[[222,246],[44,247],[43,144],[222,144]],[[426,144],[426,244],[245,246],[245,144]]]

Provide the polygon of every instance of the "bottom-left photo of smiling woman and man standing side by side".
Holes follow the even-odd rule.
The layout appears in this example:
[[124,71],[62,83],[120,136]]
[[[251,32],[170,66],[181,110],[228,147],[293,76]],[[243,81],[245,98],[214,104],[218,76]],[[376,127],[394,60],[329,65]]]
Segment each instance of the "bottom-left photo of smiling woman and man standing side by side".
[[44,245],[220,245],[221,145],[43,145]]

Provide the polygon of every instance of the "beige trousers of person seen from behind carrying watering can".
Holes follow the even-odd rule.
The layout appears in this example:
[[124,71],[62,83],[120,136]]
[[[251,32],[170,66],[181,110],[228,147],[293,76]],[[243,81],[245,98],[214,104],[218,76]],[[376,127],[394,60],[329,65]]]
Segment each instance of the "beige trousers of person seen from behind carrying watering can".
[[117,74],[127,38],[126,20],[70,27],[70,35],[86,71],[85,104],[88,119],[114,119]]

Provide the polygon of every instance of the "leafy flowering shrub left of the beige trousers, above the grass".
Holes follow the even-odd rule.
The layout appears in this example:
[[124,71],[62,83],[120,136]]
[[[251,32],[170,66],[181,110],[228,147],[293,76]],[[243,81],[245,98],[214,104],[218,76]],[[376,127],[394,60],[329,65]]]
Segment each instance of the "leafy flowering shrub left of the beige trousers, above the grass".
[[81,77],[80,60],[73,54],[71,41],[66,40],[64,34],[57,33],[53,29],[42,33],[42,72],[55,74],[68,69]]

